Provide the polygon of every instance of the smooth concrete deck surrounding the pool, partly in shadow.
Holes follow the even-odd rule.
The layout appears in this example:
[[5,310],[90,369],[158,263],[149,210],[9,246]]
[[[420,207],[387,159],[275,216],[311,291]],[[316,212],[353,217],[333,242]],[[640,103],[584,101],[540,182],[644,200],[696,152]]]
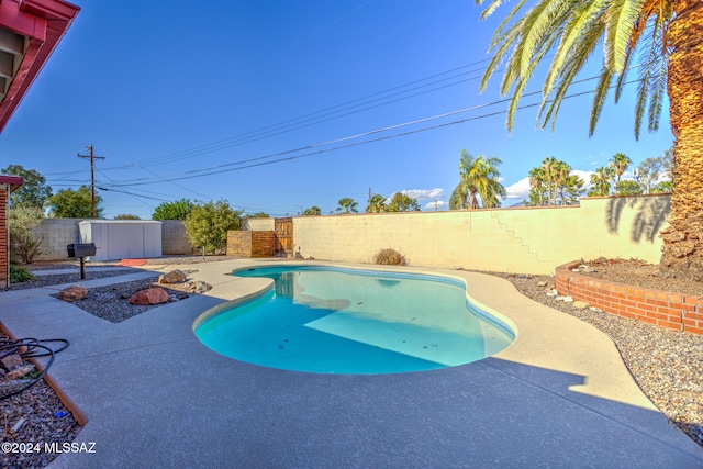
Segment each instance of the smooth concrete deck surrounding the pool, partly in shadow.
[[604,334],[489,275],[297,263],[467,280],[472,301],[500,311],[516,332],[510,347],[475,364],[323,376],[235,362],[207,349],[192,334],[196,319],[265,288],[260,279],[227,273],[266,264],[280,261],[180,266],[199,269],[192,278],[213,290],[120,324],[48,293],[0,293],[0,321],[13,335],[71,342],[49,375],[87,418],[76,440],[96,442],[97,454],[64,454],[52,467],[703,465],[703,449],[667,423]]

